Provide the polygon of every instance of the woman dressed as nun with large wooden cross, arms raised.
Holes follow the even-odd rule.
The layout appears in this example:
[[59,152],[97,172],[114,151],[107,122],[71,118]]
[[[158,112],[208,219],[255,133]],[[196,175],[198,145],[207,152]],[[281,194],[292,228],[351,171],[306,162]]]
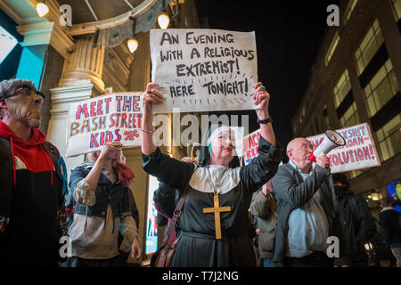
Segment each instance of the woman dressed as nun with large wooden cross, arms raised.
[[253,191],[274,176],[284,153],[276,147],[269,119],[270,94],[261,83],[253,86],[261,132],[257,158],[245,167],[238,163],[235,167],[233,131],[228,126],[211,126],[202,139],[196,166],[170,158],[152,141],[152,104],[163,102],[156,86],[148,84],[143,93],[143,169],[181,192],[189,181],[172,266],[256,266],[249,236],[250,200]]

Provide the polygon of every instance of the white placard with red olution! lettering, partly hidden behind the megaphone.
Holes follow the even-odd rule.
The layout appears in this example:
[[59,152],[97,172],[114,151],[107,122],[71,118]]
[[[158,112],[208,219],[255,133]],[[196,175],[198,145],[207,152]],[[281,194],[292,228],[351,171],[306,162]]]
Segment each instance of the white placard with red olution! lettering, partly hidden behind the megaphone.
[[[346,145],[335,148],[327,154],[331,173],[381,166],[368,124],[349,126],[337,132],[344,137]],[[307,137],[307,140],[317,148],[323,142],[323,138],[324,134],[318,134]]]

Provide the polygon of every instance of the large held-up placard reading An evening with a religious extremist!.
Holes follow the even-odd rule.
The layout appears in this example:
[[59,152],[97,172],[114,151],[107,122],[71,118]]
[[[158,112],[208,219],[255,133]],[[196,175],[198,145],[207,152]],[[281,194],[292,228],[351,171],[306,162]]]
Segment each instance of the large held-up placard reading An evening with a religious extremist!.
[[151,29],[151,79],[166,98],[153,112],[255,109],[255,32]]

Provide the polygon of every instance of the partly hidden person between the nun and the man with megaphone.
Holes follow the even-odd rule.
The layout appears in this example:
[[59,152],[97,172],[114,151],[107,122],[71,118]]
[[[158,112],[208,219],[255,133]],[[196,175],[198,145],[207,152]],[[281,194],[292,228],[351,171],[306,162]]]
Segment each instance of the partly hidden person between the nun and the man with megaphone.
[[277,229],[277,203],[272,181],[265,183],[253,194],[250,213],[257,217],[258,253],[263,267],[281,267],[273,261],[274,238]]

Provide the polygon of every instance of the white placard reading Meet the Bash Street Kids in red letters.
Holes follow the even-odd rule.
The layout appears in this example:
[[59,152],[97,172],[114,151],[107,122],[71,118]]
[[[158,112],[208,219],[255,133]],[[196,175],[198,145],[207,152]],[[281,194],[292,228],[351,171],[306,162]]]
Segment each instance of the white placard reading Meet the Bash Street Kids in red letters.
[[70,105],[65,156],[98,151],[107,142],[141,144],[141,94],[107,94]]

